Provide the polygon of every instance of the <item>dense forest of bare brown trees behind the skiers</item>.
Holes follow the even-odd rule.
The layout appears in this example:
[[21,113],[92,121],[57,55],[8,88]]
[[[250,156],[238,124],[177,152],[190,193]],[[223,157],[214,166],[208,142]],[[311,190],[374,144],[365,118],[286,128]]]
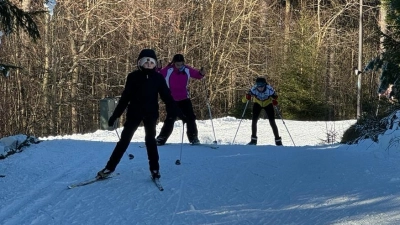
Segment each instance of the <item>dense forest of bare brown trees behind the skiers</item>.
[[[284,119],[357,117],[362,1],[57,0],[51,13],[42,1],[11,2],[35,12],[40,37],[0,35],[0,63],[16,66],[0,76],[0,137],[99,129],[100,100],[121,94],[143,48],[164,66],[181,53],[206,69],[190,83],[198,119],[209,119],[208,103],[214,118],[240,118],[259,76],[278,93]],[[378,0],[362,9],[364,67],[382,53],[385,12]],[[363,112],[379,106],[379,76],[362,73]]]

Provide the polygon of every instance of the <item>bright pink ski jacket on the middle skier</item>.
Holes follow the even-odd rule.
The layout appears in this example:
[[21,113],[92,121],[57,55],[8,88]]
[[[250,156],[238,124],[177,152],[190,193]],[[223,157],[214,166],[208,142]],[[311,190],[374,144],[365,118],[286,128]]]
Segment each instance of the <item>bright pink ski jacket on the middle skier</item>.
[[182,101],[188,99],[189,96],[189,78],[202,79],[199,70],[196,70],[190,66],[184,65],[184,69],[179,71],[174,65],[168,65],[158,71],[161,73],[165,81],[167,81],[167,86],[171,91],[171,95],[175,101]]

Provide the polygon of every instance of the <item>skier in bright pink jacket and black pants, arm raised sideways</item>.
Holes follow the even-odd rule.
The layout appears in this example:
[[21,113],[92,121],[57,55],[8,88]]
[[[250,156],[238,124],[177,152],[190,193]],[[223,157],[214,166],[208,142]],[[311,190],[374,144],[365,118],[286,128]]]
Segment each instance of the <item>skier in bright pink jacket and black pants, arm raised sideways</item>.
[[[189,142],[191,144],[200,144],[197,133],[196,116],[193,112],[188,85],[190,78],[202,79],[205,75],[204,69],[196,70],[185,65],[183,55],[176,54],[174,55],[172,62],[159,70],[159,73],[164,76],[167,86],[171,91],[171,95],[179,108],[179,110],[177,110],[178,116],[187,124],[186,134]],[[176,118],[176,116],[171,116],[167,113],[164,125],[156,139],[157,145],[164,145],[165,142],[167,142],[172,130],[174,129]]]

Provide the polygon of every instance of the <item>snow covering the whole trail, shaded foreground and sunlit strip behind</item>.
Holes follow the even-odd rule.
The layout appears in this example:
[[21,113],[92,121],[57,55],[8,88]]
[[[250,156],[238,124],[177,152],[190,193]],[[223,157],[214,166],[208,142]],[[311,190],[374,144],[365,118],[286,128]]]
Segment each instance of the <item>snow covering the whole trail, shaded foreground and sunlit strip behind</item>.
[[[0,160],[0,224],[400,224],[398,126],[378,143],[342,145],[354,120],[277,119],[284,146],[275,146],[268,121],[260,120],[259,145],[247,146],[250,120],[231,143],[239,122],[213,120],[218,149],[181,145],[176,122],[170,144],[159,147],[163,192],[149,179],[142,127],[120,175],[74,189],[67,186],[105,166],[122,128],[39,138]],[[211,144],[210,120],[197,125],[200,141]],[[336,142],[327,144],[327,134]]]

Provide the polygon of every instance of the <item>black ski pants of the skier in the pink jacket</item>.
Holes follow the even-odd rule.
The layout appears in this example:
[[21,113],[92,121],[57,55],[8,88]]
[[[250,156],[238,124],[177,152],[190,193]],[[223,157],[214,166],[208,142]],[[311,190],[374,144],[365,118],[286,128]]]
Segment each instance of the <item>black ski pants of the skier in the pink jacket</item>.
[[197,138],[198,131],[196,125],[196,116],[194,115],[192,101],[190,99],[185,99],[182,101],[176,101],[177,114],[178,116],[170,116],[167,113],[166,119],[164,121],[164,125],[161,128],[161,132],[158,135],[159,137],[165,138],[165,141],[171,136],[171,133],[174,129],[174,123],[176,118],[179,117],[183,123],[187,125],[187,137],[189,142],[192,142],[194,138]]

